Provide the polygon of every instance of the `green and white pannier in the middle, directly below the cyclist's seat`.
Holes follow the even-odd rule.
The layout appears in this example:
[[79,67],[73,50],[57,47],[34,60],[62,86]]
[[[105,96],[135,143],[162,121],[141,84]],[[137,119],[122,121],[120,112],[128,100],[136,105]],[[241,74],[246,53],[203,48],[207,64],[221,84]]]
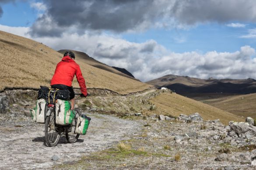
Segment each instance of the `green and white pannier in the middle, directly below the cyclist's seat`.
[[70,101],[58,99],[55,104],[55,121],[57,125],[68,125],[73,122],[75,111],[70,110]]

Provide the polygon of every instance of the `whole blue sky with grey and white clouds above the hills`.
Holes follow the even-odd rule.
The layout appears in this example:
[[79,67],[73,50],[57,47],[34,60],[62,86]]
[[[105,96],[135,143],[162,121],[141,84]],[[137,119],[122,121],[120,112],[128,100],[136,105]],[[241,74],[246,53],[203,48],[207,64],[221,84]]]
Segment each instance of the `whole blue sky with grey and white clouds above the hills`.
[[256,79],[256,0],[0,0],[0,30],[83,51],[143,82]]

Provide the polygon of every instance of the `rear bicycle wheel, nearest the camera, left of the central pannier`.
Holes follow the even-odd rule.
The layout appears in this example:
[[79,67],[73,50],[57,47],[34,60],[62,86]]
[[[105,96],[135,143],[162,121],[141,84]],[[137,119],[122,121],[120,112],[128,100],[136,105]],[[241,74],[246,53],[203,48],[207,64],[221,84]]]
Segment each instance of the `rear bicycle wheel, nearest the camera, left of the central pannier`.
[[[51,129],[50,118],[51,116],[46,117],[45,139],[46,139],[46,145],[49,147],[52,147],[52,146],[56,146],[59,143],[61,131],[56,132],[55,129]],[[55,124],[54,120],[53,120],[53,123]]]

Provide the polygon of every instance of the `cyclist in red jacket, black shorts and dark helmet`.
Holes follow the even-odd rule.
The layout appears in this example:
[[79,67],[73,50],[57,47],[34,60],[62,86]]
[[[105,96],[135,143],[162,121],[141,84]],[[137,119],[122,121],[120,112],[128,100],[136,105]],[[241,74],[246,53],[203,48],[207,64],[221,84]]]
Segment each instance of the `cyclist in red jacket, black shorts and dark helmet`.
[[81,96],[86,97],[87,88],[79,65],[74,61],[75,54],[72,51],[66,51],[62,60],[57,64],[55,73],[51,80],[52,88],[68,89],[70,91],[71,110],[75,107],[75,93],[72,87],[74,75],[81,89]]

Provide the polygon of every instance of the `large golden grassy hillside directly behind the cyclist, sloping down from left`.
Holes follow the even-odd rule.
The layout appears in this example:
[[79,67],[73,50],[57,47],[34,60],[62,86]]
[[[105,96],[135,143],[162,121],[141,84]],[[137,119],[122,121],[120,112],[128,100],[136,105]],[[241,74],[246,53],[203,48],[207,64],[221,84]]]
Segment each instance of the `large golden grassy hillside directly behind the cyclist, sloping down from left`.
[[[0,31],[0,91],[4,88],[49,86],[63,54],[30,39]],[[88,88],[106,88],[120,94],[138,92],[148,85],[86,64],[77,58]],[[79,88],[76,78],[73,86]]]

